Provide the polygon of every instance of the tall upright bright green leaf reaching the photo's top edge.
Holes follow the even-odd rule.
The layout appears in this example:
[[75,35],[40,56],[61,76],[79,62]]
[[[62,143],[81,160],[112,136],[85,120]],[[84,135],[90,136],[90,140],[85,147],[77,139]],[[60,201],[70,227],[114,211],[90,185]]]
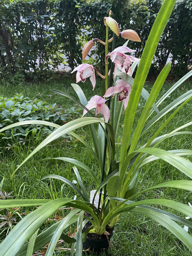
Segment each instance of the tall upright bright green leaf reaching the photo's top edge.
[[126,114],[125,114],[121,153],[120,153],[120,165],[119,165],[120,174],[121,174],[122,163],[126,158],[127,147],[128,147],[130,134],[131,134],[131,130],[134,122],[135,112],[139,102],[139,97],[141,95],[141,91],[145,83],[145,79],[149,72],[151,62],[153,60],[159,39],[171,15],[174,4],[175,4],[175,0],[165,0],[164,3],[162,4],[161,9],[159,10],[159,13],[157,15],[157,18],[155,19],[154,25],[150,31],[149,37],[147,39],[145,48],[141,56],[141,60],[135,75],[133,87],[131,89],[131,94],[130,94],[130,98],[129,98],[129,102],[128,102]]

